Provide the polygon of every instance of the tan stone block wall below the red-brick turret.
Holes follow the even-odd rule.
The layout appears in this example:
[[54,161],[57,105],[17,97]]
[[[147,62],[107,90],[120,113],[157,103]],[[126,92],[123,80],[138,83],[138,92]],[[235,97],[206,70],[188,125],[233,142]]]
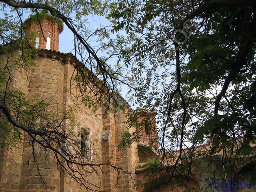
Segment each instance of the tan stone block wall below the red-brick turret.
[[[123,124],[124,113],[122,112],[122,115],[120,112],[118,114],[109,113],[108,116],[95,116],[88,107],[82,105],[81,100],[78,99],[74,102],[79,93],[71,78],[74,72],[74,61],[70,59],[72,56],[47,50],[40,50],[38,54],[39,57],[35,59],[36,65],[30,68],[30,78],[27,80],[24,71],[17,72],[13,87],[24,91],[32,104],[40,100],[56,103],[52,108],[52,113],[61,115],[61,111],[73,108],[72,116],[77,122],[74,131],[80,132],[81,128],[86,127],[90,132],[93,142],[91,146],[93,162],[96,164],[111,162],[113,166],[120,167],[126,172],[135,173],[136,144],[125,150],[118,149],[122,131],[126,129],[125,124]],[[102,114],[102,111],[98,111],[98,113]],[[67,126],[66,129],[68,128]],[[135,131],[135,128],[130,131]],[[57,168],[54,155],[50,152],[46,158],[43,155],[45,151],[38,144],[35,144],[38,161],[36,166],[31,156],[30,137],[25,134],[24,138],[26,140],[22,146],[17,144],[12,151],[0,151],[3,157],[7,158],[0,161],[1,190],[4,192],[85,191],[85,188],[79,186],[69,176],[61,173]],[[134,180],[131,180],[134,178],[130,175],[121,170],[118,173],[116,169],[108,165],[102,166],[102,170],[103,174],[98,168],[98,175],[92,172],[86,177],[86,180],[93,185],[98,185],[100,188],[97,189],[99,190],[135,191],[133,188]],[[40,179],[39,173],[48,188]]]

